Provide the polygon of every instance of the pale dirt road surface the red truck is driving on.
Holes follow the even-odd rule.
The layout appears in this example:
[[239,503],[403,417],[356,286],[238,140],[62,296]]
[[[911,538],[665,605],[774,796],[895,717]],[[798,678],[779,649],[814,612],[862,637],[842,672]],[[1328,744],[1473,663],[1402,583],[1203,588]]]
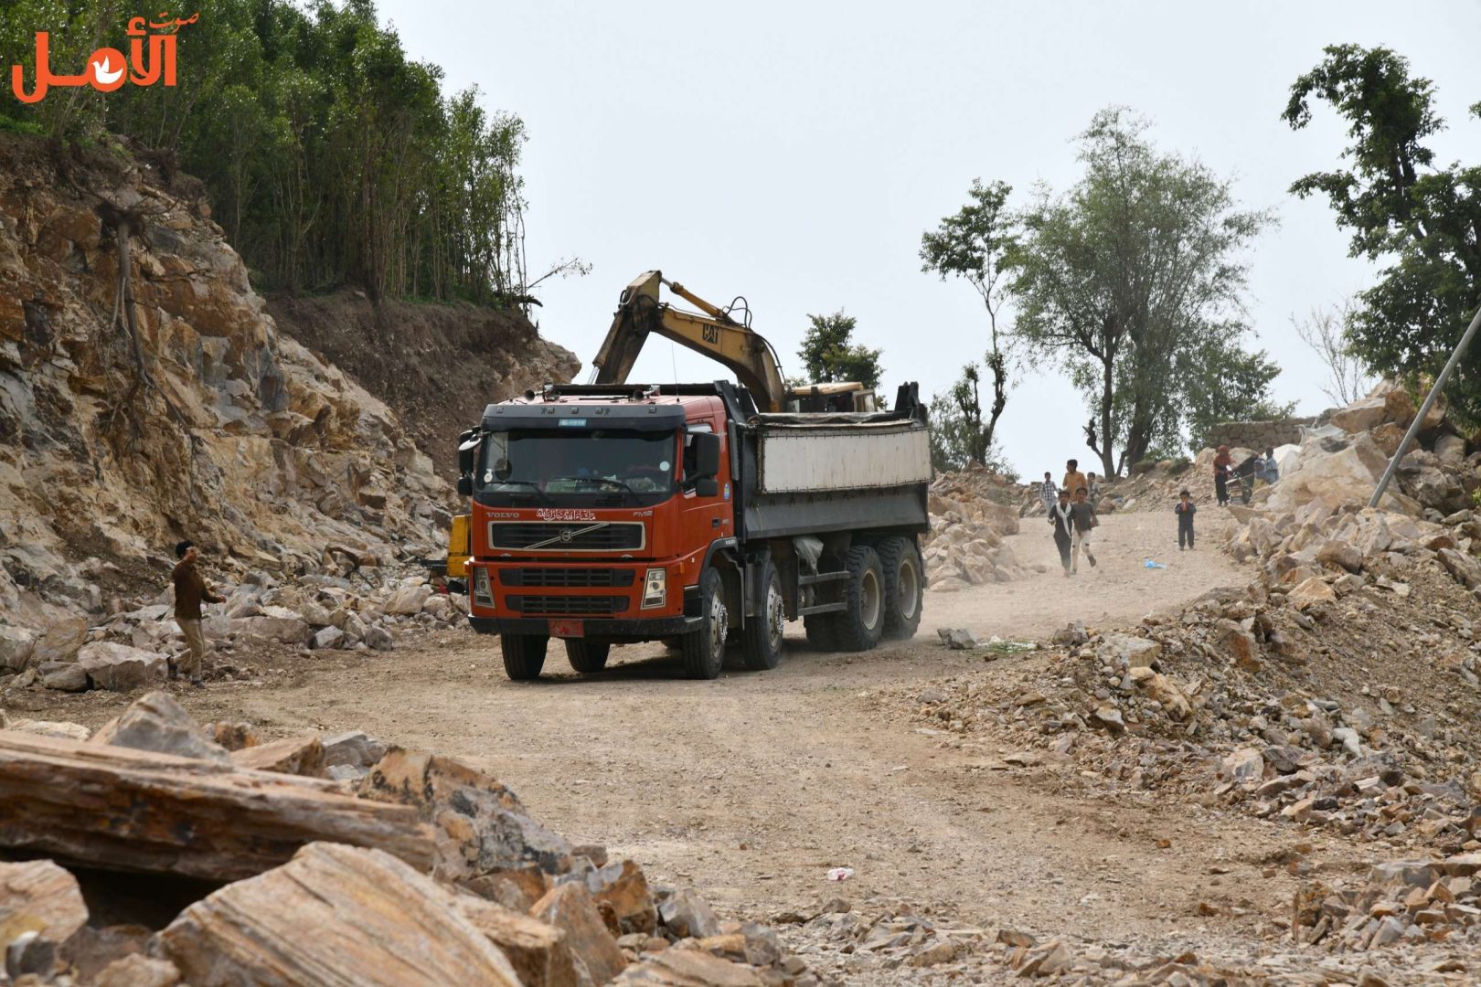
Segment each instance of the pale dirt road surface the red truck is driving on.
[[[219,682],[181,700],[201,721],[247,719],[265,734],[364,730],[465,758],[555,832],[632,857],[653,880],[692,883],[730,914],[773,919],[835,895],[887,895],[982,928],[1253,943],[1291,894],[1262,860],[1277,846],[1269,827],[1151,798],[1086,799],[1071,793],[1069,767],[1004,771],[1010,747],[943,743],[881,698],[1043,661],[949,651],[939,626],[1044,639],[1066,621],[1127,626],[1244,583],[1217,549],[1220,521],[1200,515],[1204,542],[1179,552],[1171,512],[1111,515],[1096,531],[1099,564],[1072,579],[1047,524],[1025,521],[1013,549],[1044,573],[929,593],[914,641],[866,654],[810,651],[797,626],[767,673],[692,682],[661,647],[641,645],[616,651],[606,673],[578,676],[552,644],[546,676],[517,684],[495,639],[455,632],[390,654],[314,653],[265,687]],[[1146,568],[1148,558],[1166,568]],[[123,701],[87,695],[47,713],[96,727]],[[855,875],[832,883],[832,867]],[[1210,895],[1238,903],[1237,917],[1200,914]]]

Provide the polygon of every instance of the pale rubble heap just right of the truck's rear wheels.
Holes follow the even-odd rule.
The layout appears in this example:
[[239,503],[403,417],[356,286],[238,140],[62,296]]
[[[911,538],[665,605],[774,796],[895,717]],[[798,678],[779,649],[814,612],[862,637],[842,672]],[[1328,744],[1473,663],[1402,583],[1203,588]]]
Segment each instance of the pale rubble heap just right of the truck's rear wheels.
[[1004,543],[1019,531],[1017,485],[982,468],[942,474],[930,485],[930,534],[923,540],[926,579],[937,592],[1023,577]]

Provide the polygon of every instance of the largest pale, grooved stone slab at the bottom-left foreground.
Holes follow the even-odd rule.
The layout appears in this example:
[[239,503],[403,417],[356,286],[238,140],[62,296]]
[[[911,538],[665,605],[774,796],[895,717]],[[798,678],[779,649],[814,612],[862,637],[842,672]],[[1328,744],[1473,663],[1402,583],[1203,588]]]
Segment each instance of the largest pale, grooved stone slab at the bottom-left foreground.
[[336,843],[212,892],[158,946],[191,987],[520,984],[452,891],[390,854]]

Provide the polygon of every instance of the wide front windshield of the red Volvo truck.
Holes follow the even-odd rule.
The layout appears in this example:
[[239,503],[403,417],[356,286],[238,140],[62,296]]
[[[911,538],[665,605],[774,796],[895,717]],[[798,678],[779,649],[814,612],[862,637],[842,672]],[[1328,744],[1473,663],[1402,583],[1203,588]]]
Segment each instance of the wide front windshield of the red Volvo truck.
[[649,506],[672,496],[677,451],[674,432],[493,432],[483,442],[478,491],[495,506]]

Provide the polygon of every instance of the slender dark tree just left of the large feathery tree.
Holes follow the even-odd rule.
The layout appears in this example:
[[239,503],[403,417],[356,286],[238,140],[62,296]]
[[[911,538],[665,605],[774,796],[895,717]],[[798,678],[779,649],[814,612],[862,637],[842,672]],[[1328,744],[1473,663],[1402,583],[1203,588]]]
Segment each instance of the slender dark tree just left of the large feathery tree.
[[[986,423],[982,422],[977,400],[979,371],[969,364],[966,376],[952,386],[952,400],[966,414],[970,404],[976,408],[970,419],[972,457],[983,462],[992,445],[992,434],[1009,401],[1007,355],[998,333],[998,314],[1003,309],[1003,269],[1006,257],[1014,249],[1013,222],[1007,216],[1007,198],[1012,186],[1003,182],[983,185],[973,179],[967,191],[969,203],[946,216],[935,231],[921,234],[921,271],[935,272],[942,281],[946,277],[963,278],[973,287],[988,311],[988,355],[986,367],[992,374],[992,405]],[[970,389],[970,401],[967,391]],[[960,398],[958,398],[960,392]],[[964,419],[967,422],[967,419]]]

